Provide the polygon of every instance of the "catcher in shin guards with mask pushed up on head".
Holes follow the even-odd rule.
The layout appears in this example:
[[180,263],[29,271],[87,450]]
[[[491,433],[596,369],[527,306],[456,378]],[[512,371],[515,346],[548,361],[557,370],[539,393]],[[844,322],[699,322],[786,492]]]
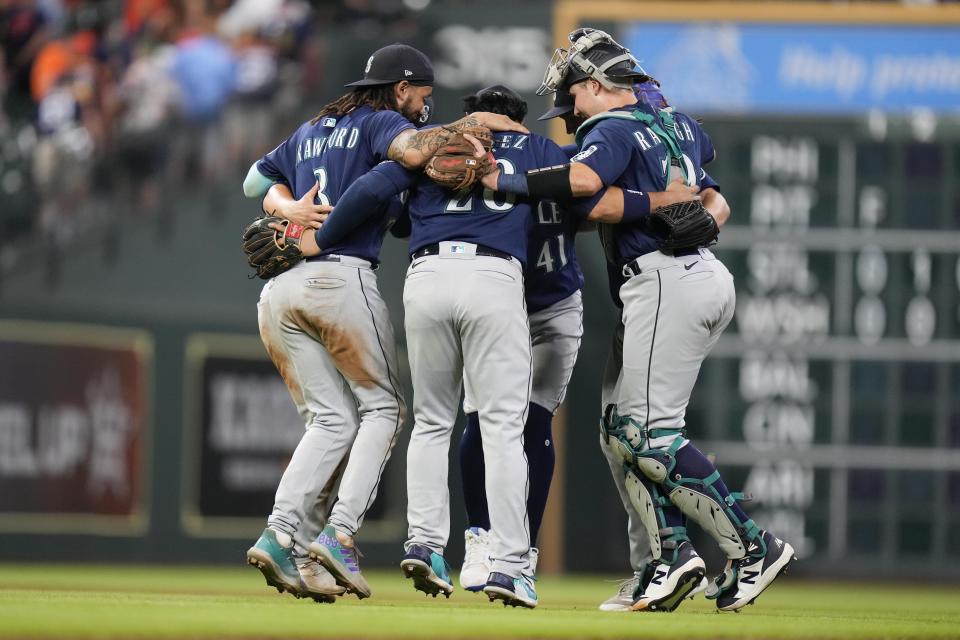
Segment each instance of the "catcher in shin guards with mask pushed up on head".
[[[702,200],[721,219],[729,215],[716,183],[703,170],[714,151],[695,120],[638,103],[633,84],[649,76],[608,34],[582,29],[551,60],[539,93],[566,89],[587,121],[577,130],[573,162],[526,175],[494,173],[498,190],[565,200],[605,186],[623,188],[624,221],[601,228],[610,262],[624,282],[623,366],[616,404],[604,430],[626,467],[628,493],[650,544],[650,562],[634,610],[672,611],[702,579],[703,560],[686,535],[693,518],[728,557],[708,597],[724,611],[739,610],[766,589],[793,559],[793,548],[761,530],[738,504],[719,472],[686,438],[684,414],[703,359],[730,322],[733,278],[703,247],[669,253],[645,223],[646,192],[682,176],[704,187]],[[626,212],[631,212],[631,217]]]

